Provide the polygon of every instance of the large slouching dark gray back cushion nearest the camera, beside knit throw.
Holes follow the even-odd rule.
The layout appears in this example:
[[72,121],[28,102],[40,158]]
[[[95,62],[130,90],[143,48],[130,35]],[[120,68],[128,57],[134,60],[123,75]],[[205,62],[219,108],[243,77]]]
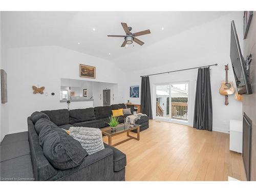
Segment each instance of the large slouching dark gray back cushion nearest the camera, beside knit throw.
[[43,127],[38,140],[47,160],[57,169],[77,167],[88,155],[79,141],[51,123]]

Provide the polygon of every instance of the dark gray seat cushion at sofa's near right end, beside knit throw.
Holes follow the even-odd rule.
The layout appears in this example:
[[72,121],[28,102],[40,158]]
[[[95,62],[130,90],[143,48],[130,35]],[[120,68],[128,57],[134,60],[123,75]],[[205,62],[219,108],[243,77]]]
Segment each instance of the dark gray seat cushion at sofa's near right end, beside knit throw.
[[111,148],[114,156],[114,171],[119,172],[126,166],[126,155],[119,151],[117,148],[104,143],[105,148]]

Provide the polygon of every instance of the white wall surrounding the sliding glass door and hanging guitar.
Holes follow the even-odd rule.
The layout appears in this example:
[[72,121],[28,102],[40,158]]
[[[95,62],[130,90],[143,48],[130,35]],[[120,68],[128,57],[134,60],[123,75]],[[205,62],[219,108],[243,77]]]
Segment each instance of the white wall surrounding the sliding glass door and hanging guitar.
[[[229,50],[230,50],[230,22],[234,20],[237,27],[238,36],[240,38],[240,46],[243,48],[243,15],[242,12],[232,13],[220,17],[207,24],[197,26],[187,30],[172,38],[165,39],[163,45],[166,49],[169,46],[176,45],[179,41],[180,46],[184,50],[190,49],[195,52],[194,57],[187,58],[186,55],[180,58],[180,62],[172,62],[172,57],[164,54],[161,55],[160,60],[166,59],[169,65],[160,66],[161,63],[156,63],[154,68],[145,68],[141,71],[130,73],[131,81],[126,83],[125,96],[134,103],[140,103],[140,98],[129,98],[129,88],[141,82],[141,75],[172,71],[178,69],[192,68],[198,66],[205,66],[218,63],[217,67],[211,67],[211,92],[212,92],[212,105],[213,105],[213,129],[215,131],[228,132],[229,120],[236,119],[242,120],[242,103],[234,100],[233,95],[229,96],[229,105],[224,105],[225,97],[219,94],[221,81],[225,80],[224,65],[229,63],[228,77],[229,81],[234,82],[232,73]],[[202,33],[204,31],[205,33]],[[159,42],[161,44],[162,42]],[[197,44],[200,44],[199,46]],[[196,50],[193,49],[195,45]],[[179,53],[181,54],[181,53]],[[141,55],[143,57],[143,55]],[[146,55],[145,62],[146,60]],[[163,58],[162,58],[163,57]],[[142,63],[140,63],[143,65]],[[183,72],[176,72],[171,74],[163,74],[151,76],[151,98],[153,115],[155,116],[155,84],[164,82],[189,82],[189,95],[188,95],[188,124],[193,126],[194,117],[194,104],[195,104],[195,90],[196,90],[197,70],[189,70]],[[234,83],[235,84],[235,83]]]

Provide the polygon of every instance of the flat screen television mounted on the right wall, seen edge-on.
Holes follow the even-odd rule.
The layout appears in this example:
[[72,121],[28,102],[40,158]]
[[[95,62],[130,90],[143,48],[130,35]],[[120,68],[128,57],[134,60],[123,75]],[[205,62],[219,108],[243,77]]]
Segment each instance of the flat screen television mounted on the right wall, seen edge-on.
[[250,80],[247,75],[244,57],[240,49],[238,34],[233,20],[231,21],[230,59],[234,79],[237,84],[237,92],[241,95],[252,94]]

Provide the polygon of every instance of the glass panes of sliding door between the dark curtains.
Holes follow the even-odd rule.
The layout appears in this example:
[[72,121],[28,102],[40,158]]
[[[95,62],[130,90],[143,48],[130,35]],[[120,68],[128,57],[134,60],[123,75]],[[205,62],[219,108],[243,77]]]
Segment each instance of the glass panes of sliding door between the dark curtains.
[[156,85],[156,118],[188,120],[188,83]]

